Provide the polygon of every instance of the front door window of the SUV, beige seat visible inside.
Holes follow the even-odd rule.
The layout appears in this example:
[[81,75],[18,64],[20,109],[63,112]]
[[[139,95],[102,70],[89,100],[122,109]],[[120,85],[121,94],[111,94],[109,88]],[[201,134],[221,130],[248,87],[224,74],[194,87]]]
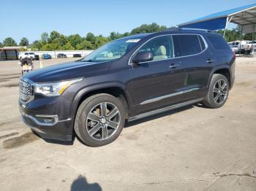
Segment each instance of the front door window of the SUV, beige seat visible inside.
[[160,61],[173,58],[173,39],[172,36],[159,36],[151,39],[140,47],[138,52],[152,52],[153,61]]

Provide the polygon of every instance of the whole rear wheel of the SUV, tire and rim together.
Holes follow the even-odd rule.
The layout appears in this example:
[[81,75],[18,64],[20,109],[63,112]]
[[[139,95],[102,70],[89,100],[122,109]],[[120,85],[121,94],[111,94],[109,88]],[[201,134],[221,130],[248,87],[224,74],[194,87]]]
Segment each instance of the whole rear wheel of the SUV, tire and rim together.
[[213,109],[223,106],[227,101],[229,90],[230,85],[227,78],[222,74],[213,74],[203,105]]

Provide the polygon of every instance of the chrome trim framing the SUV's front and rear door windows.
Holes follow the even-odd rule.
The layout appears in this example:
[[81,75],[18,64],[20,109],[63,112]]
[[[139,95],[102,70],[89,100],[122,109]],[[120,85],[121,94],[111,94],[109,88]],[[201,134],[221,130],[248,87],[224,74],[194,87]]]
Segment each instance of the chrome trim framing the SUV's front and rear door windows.
[[[155,39],[157,37],[160,37],[160,36],[174,36],[174,35],[195,35],[195,36],[201,36],[201,38],[203,39],[203,42],[205,43],[206,45],[206,48],[205,50],[197,53],[197,54],[194,54],[194,55],[200,55],[202,54],[203,52],[205,52],[206,50],[208,50],[208,43],[206,42],[206,39],[203,37],[203,35],[201,34],[162,34],[162,35],[159,35],[159,36],[154,36],[152,37],[151,39],[148,39],[146,42],[144,42],[143,44],[140,45],[140,47],[137,48],[137,50],[135,50],[135,52],[132,53],[132,55],[129,57],[129,61],[128,61],[128,65],[132,66],[132,62],[131,62],[131,59],[132,57],[138,52],[138,50],[140,50],[141,47],[143,47],[144,44],[146,44],[147,42],[151,41],[152,39]],[[199,40],[199,39],[198,39]],[[173,44],[173,50],[175,49],[174,47],[174,44]],[[176,58],[187,58],[187,57],[190,57],[190,56],[194,56],[194,55],[184,55],[184,56],[178,56],[178,57],[173,57],[173,58],[165,58],[165,59],[162,59],[162,60],[158,60],[158,61],[165,61],[165,60],[172,60],[172,59],[176,59]],[[147,61],[147,62],[141,62],[141,63],[152,63],[152,62],[156,62],[156,61]]]

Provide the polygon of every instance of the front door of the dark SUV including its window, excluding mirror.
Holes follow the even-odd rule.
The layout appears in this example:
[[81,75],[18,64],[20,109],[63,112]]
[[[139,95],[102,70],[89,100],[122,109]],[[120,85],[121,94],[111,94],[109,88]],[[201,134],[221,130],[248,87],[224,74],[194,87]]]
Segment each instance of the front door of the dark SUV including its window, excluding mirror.
[[130,94],[135,114],[179,101],[181,95],[176,90],[181,88],[182,74],[179,72],[179,60],[174,58],[172,36],[157,36],[137,52],[152,52],[154,60],[131,66]]

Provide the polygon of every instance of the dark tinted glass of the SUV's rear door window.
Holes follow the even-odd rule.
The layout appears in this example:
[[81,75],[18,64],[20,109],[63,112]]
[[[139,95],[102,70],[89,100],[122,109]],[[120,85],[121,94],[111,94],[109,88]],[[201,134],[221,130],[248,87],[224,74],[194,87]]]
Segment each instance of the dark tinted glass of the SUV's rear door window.
[[173,44],[176,57],[195,55],[202,52],[202,48],[206,48],[204,43],[200,43],[198,35],[173,35]]

